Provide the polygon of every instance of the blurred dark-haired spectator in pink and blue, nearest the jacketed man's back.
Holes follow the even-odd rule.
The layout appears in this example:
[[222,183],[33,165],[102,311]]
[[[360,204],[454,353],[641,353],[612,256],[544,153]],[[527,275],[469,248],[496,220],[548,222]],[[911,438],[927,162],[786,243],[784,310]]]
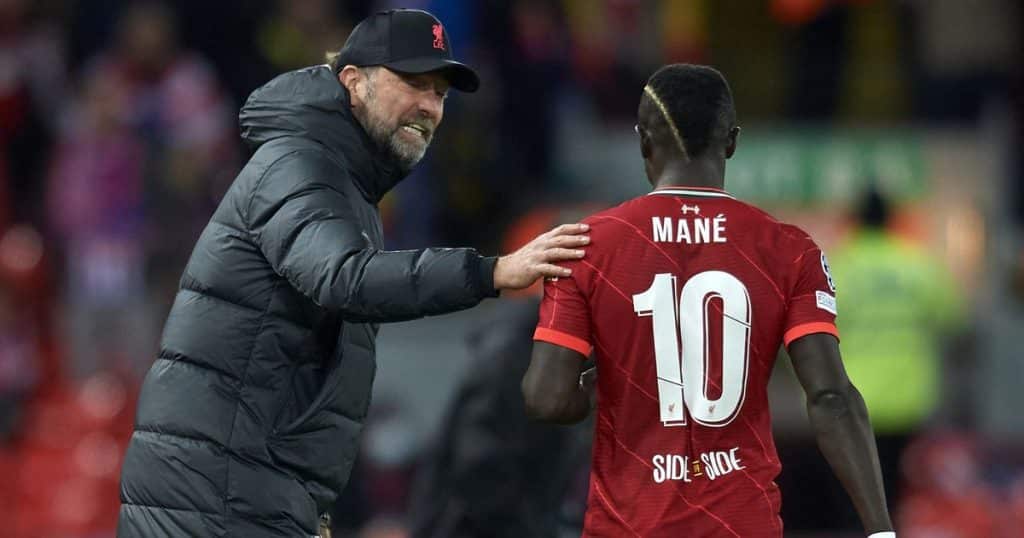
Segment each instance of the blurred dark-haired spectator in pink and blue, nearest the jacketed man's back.
[[174,13],[159,2],[125,10],[117,41],[89,76],[118,88],[124,120],[145,142],[147,277],[169,301],[193,242],[236,171],[231,106],[209,65],[178,46]]

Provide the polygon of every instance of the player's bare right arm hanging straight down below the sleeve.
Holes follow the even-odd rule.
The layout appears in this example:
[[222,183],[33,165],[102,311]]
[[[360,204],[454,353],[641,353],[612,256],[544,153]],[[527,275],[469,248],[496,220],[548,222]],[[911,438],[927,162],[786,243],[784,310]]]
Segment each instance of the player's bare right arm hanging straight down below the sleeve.
[[853,500],[864,530],[891,531],[867,407],[846,375],[839,342],[830,334],[816,333],[794,340],[788,349],[807,394],[818,447]]

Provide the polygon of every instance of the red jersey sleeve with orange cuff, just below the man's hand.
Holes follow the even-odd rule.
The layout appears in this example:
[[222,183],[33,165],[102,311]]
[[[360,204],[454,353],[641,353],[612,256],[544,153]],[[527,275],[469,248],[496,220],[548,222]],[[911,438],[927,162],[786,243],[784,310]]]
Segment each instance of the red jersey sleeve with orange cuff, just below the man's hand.
[[578,282],[569,278],[544,281],[544,299],[534,339],[589,357],[593,350],[590,307]]

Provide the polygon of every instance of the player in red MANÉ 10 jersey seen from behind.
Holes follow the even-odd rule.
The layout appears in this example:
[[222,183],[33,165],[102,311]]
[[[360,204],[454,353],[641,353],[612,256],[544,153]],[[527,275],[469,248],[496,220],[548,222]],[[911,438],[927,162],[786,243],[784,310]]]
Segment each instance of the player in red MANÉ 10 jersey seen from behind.
[[836,290],[806,233],[723,190],[736,114],[722,75],[672,65],[636,131],[654,190],[585,220],[592,246],[549,280],[527,411],[597,419],[584,536],[779,537],[780,470],[766,387],[779,345],[818,445],[865,531],[892,537],[863,400],[839,351]]

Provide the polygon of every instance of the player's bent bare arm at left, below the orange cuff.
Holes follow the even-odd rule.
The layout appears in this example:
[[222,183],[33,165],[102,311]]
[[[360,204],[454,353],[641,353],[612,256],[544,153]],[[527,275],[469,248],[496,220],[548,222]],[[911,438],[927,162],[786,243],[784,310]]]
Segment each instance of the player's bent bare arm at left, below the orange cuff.
[[522,377],[526,414],[534,420],[558,424],[587,418],[594,385],[592,376],[581,379],[586,361],[574,349],[535,341],[529,368]]

